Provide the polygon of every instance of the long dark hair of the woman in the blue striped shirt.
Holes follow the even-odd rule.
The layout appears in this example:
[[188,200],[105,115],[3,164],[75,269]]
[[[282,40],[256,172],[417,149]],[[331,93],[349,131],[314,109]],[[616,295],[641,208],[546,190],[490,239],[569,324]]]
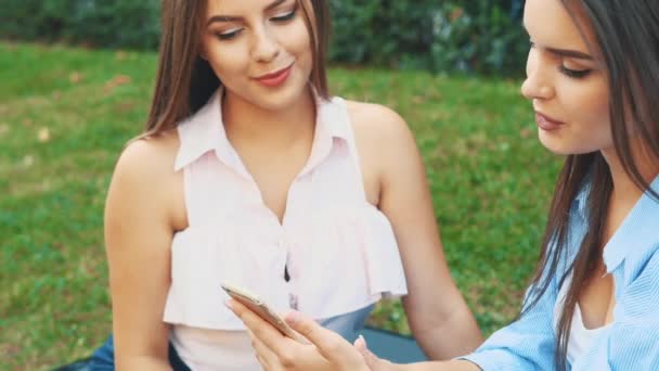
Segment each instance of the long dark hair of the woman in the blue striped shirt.
[[[657,166],[659,158],[659,4],[657,0],[561,0],[576,24],[585,35],[594,34],[589,44],[608,79],[609,115],[617,155],[628,176],[638,189],[657,202],[657,190],[649,189],[633,155],[634,143],[642,143],[644,154]],[[657,169],[659,170],[659,168]],[[585,204],[587,232],[573,261],[567,263],[568,222],[572,203],[583,187],[590,184]],[[567,345],[574,306],[602,257],[608,205],[613,189],[609,167],[599,152],[569,155],[556,181],[547,225],[542,239],[533,290],[527,296],[520,316],[535,306],[547,291],[559,267],[568,270],[558,278],[561,284],[572,274],[560,312],[556,336],[555,364],[567,369]],[[568,282],[568,281],[565,281]]]

